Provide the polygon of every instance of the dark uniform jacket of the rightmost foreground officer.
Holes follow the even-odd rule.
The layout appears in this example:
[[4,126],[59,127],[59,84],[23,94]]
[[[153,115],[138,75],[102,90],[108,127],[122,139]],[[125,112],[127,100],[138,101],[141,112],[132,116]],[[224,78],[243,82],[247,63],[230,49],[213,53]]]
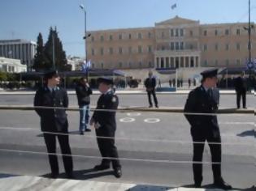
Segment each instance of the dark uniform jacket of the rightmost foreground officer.
[[[184,112],[216,113],[219,108],[219,90],[214,88],[210,93],[204,87],[197,87],[189,92]],[[192,128],[219,129],[216,115],[184,115]]]

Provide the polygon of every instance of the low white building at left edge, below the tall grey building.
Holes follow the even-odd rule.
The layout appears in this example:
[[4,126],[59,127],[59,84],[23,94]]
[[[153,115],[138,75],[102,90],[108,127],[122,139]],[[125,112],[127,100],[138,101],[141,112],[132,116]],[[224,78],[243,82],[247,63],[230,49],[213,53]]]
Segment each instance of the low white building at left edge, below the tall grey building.
[[18,59],[11,59],[7,57],[0,57],[0,70],[9,73],[26,72],[27,66],[21,64]]

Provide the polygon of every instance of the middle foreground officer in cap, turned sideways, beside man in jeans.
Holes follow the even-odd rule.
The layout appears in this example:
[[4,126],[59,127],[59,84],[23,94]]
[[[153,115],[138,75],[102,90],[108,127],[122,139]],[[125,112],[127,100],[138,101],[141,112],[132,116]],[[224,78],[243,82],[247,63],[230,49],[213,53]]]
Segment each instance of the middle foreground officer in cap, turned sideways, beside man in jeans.
[[[115,110],[118,107],[119,100],[111,89],[113,81],[107,78],[98,79],[98,90],[102,95],[98,99],[97,108],[93,113],[90,125],[94,125],[96,129],[98,148],[103,157],[102,163],[94,167],[95,170],[105,170],[112,167],[114,169],[115,177],[122,176],[121,165],[119,163],[119,156],[115,147]],[[108,111],[111,110],[111,111]],[[105,137],[105,138],[101,138]],[[107,137],[107,138],[106,138]],[[114,159],[106,159],[114,158]]]

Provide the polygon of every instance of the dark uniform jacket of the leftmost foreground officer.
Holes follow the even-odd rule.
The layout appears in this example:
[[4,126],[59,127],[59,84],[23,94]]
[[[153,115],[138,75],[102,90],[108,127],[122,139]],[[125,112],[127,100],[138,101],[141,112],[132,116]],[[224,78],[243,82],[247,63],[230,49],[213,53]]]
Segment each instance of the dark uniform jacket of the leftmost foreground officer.
[[[68,107],[67,91],[56,87],[52,93],[48,87],[41,87],[37,90],[34,98],[35,110],[41,117],[41,130],[47,132],[67,132]],[[54,108],[37,108],[37,106]]]

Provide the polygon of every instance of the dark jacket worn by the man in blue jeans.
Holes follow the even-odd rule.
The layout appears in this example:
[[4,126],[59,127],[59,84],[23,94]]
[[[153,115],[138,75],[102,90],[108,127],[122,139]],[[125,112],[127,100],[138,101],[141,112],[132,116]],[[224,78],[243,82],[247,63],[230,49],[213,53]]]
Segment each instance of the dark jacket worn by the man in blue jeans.
[[81,83],[76,86],[76,96],[78,105],[86,105],[90,103],[90,95],[93,94],[93,91],[90,87],[87,87]]

